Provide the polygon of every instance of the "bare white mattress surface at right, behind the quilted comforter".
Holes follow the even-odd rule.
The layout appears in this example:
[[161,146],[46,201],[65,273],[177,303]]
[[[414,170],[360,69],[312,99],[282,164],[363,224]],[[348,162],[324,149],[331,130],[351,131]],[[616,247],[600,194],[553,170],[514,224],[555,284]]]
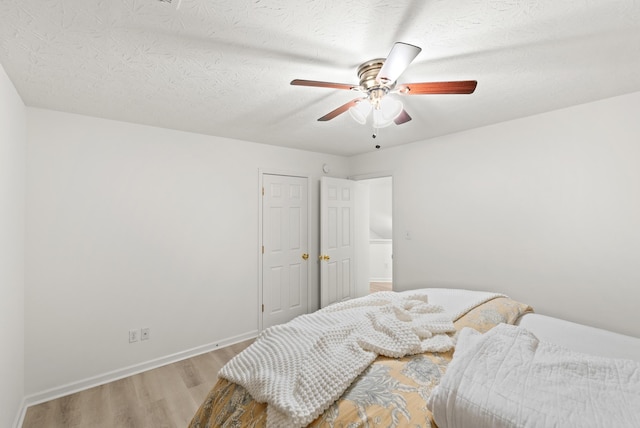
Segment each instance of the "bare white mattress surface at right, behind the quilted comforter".
[[543,342],[572,351],[640,361],[640,339],[540,314],[525,314],[519,325]]

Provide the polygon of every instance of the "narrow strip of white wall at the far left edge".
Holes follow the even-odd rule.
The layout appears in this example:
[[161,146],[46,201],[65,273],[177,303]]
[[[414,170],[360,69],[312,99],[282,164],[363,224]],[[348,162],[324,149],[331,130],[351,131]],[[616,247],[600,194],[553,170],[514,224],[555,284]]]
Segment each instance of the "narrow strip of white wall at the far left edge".
[[0,65],[0,426],[24,395],[26,109]]

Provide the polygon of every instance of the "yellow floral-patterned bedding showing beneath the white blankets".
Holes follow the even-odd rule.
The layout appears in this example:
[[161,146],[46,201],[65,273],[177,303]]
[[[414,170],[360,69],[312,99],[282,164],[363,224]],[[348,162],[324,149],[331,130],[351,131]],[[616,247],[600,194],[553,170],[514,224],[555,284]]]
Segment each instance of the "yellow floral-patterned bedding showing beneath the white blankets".
[[[532,309],[499,297],[460,317],[456,330],[471,327],[482,333],[513,324]],[[310,427],[435,427],[427,399],[440,381],[453,351],[402,358],[378,357],[343,396]],[[255,402],[244,388],[219,379],[207,395],[189,428],[264,427],[266,404]]]

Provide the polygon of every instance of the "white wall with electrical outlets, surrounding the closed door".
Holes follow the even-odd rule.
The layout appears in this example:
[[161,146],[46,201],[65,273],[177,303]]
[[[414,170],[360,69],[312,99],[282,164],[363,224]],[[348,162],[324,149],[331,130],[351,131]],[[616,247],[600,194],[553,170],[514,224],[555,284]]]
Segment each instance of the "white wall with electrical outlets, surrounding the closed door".
[[[342,157],[27,111],[30,396],[255,334],[259,168],[312,176],[312,225],[323,163],[347,172]],[[151,340],[129,344],[140,327]]]

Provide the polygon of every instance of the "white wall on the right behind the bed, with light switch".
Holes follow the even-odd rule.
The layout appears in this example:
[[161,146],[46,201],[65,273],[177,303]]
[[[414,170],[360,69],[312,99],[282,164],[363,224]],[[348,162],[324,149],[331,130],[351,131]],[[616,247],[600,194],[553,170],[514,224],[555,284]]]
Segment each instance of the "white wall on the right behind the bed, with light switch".
[[353,157],[393,172],[394,289],[502,291],[640,337],[638,111],[633,93]]

